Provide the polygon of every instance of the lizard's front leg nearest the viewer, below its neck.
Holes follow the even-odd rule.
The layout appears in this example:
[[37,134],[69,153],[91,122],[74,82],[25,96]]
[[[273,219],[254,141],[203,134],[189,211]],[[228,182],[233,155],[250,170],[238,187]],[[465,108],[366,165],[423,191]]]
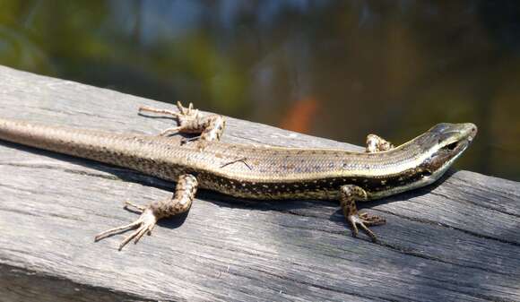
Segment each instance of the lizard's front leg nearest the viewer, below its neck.
[[363,229],[365,233],[367,233],[368,237],[372,239],[372,241],[377,242],[376,234],[368,229],[368,227],[384,224],[386,220],[377,215],[370,215],[365,212],[360,213],[356,207],[356,201],[367,200],[367,192],[365,192],[365,190],[363,190],[360,186],[354,185],[342,186],[340,190],[340,203],[342,205],[343,214],[351,225],[352,236],[358,236],[359,225],[360,228]]

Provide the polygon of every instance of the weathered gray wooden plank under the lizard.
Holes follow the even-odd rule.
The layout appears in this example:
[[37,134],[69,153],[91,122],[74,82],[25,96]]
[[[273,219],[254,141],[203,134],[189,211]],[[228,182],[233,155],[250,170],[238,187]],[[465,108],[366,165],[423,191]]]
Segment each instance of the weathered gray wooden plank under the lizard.
[[[157,134],[150,99],[0,66],[0,116]],[[230,119],[224,140],[356,149]],[[189,213],[117,251],[100,230],[172,185],[0,142],[0,301],[520,301],[520,184],[449,171],[440,185],[366,203],[381,239],[354,239],[337,203],[200,192]]]

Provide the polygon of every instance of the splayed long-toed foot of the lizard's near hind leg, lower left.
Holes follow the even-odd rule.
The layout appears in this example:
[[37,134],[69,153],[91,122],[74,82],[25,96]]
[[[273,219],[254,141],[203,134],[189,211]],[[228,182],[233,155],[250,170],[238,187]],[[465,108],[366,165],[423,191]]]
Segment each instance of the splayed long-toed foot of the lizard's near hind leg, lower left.
[[132,223],[101,232],[95,237],[95,241],[99,241],[102,238],[109,237],[117,233],[124,232],[128,229],[134,229],[135,227],[137,227],[137,229],[134,230],[132,234],[128,235],[121,242],[121,244],[119,245],[119,250],[121,250],[132,239],[134,239],[134,244],[136,244],[137,242],[139,242],[139,239],[141,239],[141,237],[143,237],[145,233],[148,233],[149,235],[152,233],[152,229],[155,227],[155,224],[158,220],[156,215],[153,213],[152,209],[150,207],[144,207],[142,205],[137,205],[130,202],[126,202],[126,206],[132,206],[137,211],[140,211],[141,216],[139,216],[139,218]]

